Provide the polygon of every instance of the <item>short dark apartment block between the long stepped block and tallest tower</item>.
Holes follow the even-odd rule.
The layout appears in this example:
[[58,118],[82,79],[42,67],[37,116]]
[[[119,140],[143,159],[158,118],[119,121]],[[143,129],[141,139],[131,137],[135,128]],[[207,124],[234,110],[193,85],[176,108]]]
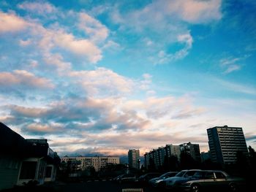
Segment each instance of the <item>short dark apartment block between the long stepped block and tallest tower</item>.
[[201,161],[199,144],[192,144],[191,142],[188,142],[179,146],[181,147],[181,151],[184,150],[186,153],[189,153],[195,161]]

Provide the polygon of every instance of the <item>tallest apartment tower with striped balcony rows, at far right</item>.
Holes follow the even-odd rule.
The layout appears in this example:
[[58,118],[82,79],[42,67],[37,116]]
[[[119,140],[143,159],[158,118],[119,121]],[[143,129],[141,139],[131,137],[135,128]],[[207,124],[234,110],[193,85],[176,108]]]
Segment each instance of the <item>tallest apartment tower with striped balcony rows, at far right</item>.
[[236,163],[236,153],[248,155],[241,127],[216,126],[207,129],[211,160],[220,164]]

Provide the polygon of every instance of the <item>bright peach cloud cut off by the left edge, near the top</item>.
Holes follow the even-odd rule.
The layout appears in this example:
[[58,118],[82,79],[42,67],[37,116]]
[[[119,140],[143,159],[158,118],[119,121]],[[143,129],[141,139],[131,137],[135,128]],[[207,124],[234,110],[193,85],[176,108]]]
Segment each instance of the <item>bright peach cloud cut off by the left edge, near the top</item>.
[[26,20],[13,13],[0,12],[0,33],[20,31],[28,25]]

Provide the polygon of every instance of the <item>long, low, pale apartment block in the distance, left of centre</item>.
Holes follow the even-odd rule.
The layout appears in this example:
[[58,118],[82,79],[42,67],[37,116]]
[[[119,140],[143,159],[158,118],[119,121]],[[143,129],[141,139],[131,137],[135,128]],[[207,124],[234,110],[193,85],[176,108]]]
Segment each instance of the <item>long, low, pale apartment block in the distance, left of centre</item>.
[[84,170],[86,167],[94,166],[96,172],[107,164],[120,164],[118,157],[63,157],[61,161],[80,161],[80,169]]

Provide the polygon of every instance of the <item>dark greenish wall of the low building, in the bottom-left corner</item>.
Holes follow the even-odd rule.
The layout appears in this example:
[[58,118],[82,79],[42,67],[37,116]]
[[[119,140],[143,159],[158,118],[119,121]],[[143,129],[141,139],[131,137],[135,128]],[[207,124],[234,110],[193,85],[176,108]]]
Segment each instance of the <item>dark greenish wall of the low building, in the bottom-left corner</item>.
[[20,165],[19,158],[0,157],[0,190],[16,185]]

